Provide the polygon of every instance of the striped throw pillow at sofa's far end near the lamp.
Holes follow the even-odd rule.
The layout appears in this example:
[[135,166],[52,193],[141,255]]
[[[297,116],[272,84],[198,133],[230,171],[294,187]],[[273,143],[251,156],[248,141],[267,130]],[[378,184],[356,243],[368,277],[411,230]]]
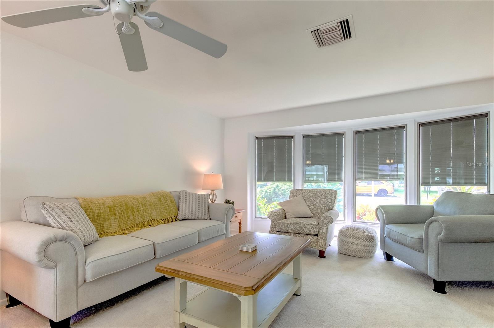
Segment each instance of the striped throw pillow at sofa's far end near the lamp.
[[209,194],[180,191],[178,220],[209,220]]

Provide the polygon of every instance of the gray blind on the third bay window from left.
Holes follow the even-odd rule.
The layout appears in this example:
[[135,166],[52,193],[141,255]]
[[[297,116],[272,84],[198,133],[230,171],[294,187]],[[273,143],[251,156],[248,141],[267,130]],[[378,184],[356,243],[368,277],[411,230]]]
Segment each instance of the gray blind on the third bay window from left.
[[405,180],[405,127],[355,132],[357,181]]

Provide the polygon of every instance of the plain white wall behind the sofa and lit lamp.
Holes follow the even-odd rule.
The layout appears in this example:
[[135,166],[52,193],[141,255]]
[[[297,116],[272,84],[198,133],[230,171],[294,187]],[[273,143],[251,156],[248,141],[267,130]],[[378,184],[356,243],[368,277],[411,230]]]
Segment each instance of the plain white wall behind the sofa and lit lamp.
[[8,33],[0,66],[1,221],[30,195],[203,192],[222,172],[222,119]]

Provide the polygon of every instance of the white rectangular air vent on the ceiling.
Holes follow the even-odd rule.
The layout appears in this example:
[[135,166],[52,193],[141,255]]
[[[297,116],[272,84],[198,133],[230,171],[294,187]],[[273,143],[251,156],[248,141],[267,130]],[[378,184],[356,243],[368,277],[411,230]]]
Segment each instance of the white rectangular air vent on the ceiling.
[[307,30],[318,48],[355,39],[352,15]]

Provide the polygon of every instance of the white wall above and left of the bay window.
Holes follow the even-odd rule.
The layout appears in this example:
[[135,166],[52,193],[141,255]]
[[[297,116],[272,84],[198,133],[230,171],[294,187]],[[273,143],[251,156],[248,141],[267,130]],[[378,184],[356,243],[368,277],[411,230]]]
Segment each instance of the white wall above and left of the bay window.
[[[257,225],[252,225],[253,199],[248,197],[248,186],[251,174],[249,163],[254,158],[248,151],[249,146],[252,146],[248,142],[249,136],[253,137],[256,133],[264,134],[273,130],[278,130],[280,133],[290,131],[291,133],[288,134],[293,134],[294,131],[300,131],[301,128],[309,129],[311,126],[319,129],[319,133],[329,129],[328,123],[331,122],[339,122],[333,124],[332,129],[345,131],[347,128],[353,128],[355,122],[363,124],[368,121],[371,122],[369,124],[378,126],[379,119],[375,119],[376,117],[435,110],[440,110],[448,117],[449,112],[461,110],[461,108],[456,110],[448,108],[492,102],[494,102],[494,79],[490,78],[226,119],[225,193],[230,197],[229,199],[235,200],[237,206],[247,208],[249,230],[265,229],[269,220],[256,221]],[[406,116],[407,120],[413,119],[412,114]]]

